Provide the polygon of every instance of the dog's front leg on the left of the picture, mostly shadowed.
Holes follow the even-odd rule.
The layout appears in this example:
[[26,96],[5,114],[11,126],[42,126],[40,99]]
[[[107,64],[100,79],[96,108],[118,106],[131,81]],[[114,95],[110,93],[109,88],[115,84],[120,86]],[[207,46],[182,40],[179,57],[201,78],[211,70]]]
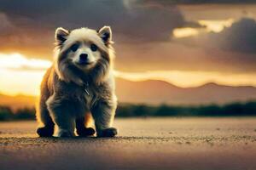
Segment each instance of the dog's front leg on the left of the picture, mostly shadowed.
[[73,137],[75,128],[75,118],[73,116],[72,106],[65,99],[55,95],[47,100],[47,106],[50,116],[58,127],[58,137]]

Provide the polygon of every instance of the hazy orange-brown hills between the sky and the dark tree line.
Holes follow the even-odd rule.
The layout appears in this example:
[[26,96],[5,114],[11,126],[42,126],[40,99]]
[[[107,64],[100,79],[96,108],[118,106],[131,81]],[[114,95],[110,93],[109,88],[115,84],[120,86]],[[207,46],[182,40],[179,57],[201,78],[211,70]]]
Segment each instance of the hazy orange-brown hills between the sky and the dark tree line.
[[[231,87],[212,82],[196,88],[179,88],[158,80],[132,82],[117,78],[116,88],[120,103],[221,105],[256,99],[256,88],[252,86]],[[36,99],[34,96],[0,94],[0,105],[9,105],[13,109],[33,107]]]

